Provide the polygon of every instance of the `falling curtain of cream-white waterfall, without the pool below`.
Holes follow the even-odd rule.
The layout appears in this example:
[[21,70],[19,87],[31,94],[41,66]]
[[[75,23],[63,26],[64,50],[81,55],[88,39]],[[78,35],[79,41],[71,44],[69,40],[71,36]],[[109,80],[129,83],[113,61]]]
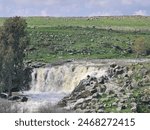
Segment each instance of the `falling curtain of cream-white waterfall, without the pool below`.
[[32,73],[31,90],[34,92],[70,93],[87,75],[100,76],[105,69],[97,65],[64,64],[35,68]]

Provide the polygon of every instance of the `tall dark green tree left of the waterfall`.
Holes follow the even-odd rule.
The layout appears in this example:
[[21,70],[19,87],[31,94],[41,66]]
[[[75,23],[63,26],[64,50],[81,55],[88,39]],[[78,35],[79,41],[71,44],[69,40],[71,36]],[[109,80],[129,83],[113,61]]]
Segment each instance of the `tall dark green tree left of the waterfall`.
[[24,82],[25,50],[29,44],[27,23],[21,17],[8,18],[0,33],[0,84],[9,92]]

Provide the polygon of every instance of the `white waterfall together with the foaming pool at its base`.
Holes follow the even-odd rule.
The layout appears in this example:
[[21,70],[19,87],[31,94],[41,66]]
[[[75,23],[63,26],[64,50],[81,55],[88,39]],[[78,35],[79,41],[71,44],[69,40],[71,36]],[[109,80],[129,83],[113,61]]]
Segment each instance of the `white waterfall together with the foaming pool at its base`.
[[31,90],[24,94],[29,97],[26,108],[36,111],[47,103],[55,104],[85,79],[87,75],[101,77],[106,69],[101,65],[64,64],[47,68],[35,68],[32,72]]

